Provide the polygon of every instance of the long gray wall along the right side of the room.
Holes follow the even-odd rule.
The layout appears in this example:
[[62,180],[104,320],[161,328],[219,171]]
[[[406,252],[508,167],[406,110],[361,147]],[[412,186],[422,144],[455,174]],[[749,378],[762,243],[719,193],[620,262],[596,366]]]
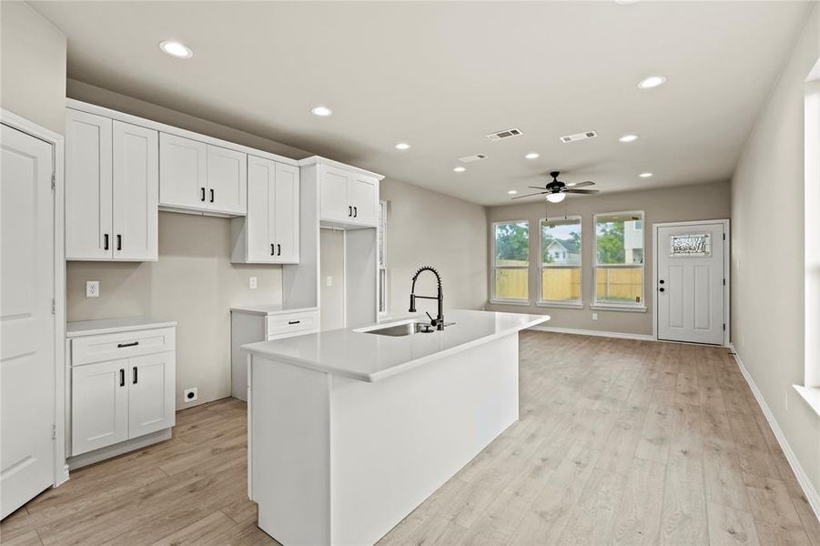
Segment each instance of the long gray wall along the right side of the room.
[[792,389],[806,364],[820,365],[804,359],[803,291],[804,93],[820,56],[820,5],[806,20],[732,180],[732,339],[818,490],[820,420]]

